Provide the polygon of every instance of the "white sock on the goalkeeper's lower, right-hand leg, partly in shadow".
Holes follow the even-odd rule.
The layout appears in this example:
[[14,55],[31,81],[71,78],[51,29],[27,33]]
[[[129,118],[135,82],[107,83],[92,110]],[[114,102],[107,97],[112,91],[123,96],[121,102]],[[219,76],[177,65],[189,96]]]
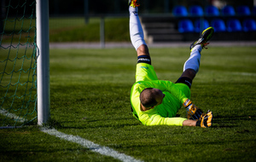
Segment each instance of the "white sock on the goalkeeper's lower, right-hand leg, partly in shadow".
[[196,45],[190,52],[189,59],[184,63],[183,72],[186,69],[193,69],[198,72],[201,61],[201,44]]

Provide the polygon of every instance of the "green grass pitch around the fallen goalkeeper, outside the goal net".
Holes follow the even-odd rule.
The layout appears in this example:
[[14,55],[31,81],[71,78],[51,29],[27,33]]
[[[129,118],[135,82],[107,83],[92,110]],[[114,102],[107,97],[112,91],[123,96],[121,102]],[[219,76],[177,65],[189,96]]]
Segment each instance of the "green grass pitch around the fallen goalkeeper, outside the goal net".
[[[256,47],[209,47],[191,100],[213,126],[144,126],[131,115],[134,49],[50,49],[51,126],[143,161],[256,160]],[[175,82],[189,48],[150,49],[160,79]],[[185,117],[182,107],[178,114]],[[117,161],[38,126],[0,130],[0,161]]]

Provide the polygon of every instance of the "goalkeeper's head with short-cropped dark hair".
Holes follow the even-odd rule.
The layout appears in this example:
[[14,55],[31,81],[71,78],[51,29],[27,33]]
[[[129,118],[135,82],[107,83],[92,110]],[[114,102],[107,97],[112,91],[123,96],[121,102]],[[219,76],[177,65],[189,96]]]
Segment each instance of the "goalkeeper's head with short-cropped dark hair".
[[154,108],[162,103],[166,95],[159,89],[147,88],[140,94],[140,101],[142,103],[142,110],[146,111]]

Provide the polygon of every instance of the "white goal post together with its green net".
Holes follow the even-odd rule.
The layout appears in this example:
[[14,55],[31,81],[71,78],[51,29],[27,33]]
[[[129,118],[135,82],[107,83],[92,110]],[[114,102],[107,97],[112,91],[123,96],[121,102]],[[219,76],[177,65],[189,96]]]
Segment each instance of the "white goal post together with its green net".
[[0,1],[0,128],[49,119],[49,0]]

